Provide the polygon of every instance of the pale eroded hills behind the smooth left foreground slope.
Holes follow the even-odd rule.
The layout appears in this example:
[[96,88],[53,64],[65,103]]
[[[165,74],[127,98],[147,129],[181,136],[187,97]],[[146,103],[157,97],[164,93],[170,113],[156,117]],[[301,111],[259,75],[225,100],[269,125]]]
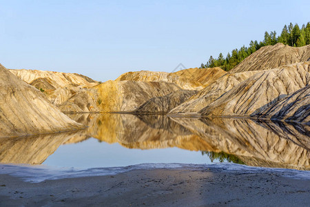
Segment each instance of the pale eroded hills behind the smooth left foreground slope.
[[99,112],[96,106],[97,81],[76,73],[43,70],[10,70],[14,75],[40,89],[63,112]]

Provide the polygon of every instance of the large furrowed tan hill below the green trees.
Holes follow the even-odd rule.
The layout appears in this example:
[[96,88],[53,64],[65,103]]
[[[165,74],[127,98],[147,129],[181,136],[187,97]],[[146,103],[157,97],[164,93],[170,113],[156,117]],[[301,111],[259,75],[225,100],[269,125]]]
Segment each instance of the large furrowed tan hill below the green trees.
[[[267,104],[267,101],[277,99],[277,95],[288,95],[309,84],[307,82],[308,79],[306,79],[309,75],[309,70],[307,68],[309,64],[307,60],[309,59],[310,45],[293,48],[278,43],[275,46],[262,47],[260,50],[247,57],[247,59],[242,61],[233,70],[227,72],[226,75],[219,77],[210,83],[209,86],[200,90],[196,95],[172,109],[169,115],[200,115],[200,112],[202,112],[203,115],[216,116],[250,115],[251,112],[260,108],[262,103]],[[302,70],[299,66],[296,70],[289,70],[287,73],[276,72],[276,70],[280,68],[288,69],[296,67],[289,65],[296,62],[299,63],[300,61],[306,61],[302,63],[301,66],[304,68],[304,72],[300,73]],[[287,63],[289,64],[286,65]],[[267,72],[271,69],[273,72]],[[296,74],[294,72],[296,72]],[[262,75],[262,77],[258,74]],[[284,77],[285,74],[287,74],[287,77]],[[254,80],[253,77],[256,80]],[[259,77],[260,81],[258,81]],[[262,83],[262,85],[252,86],[253,84],[258,84],[258,82],[254,83],[253,81],[258,81]],[[241,86],[241,84],[243,85]],[[249,88],[251,89],[249,90]],[[254,88],[256,88],[255,91],[253,90]],[[232,92],[233,90],[234,92]],[[247,90],[249,90],[249,92],[247,92]],[[266,93],[263,94],[263,91]],[[251,92],[255,95],[250,95]],[[234,97],[232,93],[238,93],[239,95],[238,97]],[[244,98],[246,96],[245,93],[249,96],[248,99]],[[224,99],[226,100],[224,101]],[[215,101],[216,103],[214,103]],[[216,106],[216,104],[220,104],[220,106]],[[223,104],[227,106],[222,108],[223,111],[220,112],[220,108],[224,106]]]

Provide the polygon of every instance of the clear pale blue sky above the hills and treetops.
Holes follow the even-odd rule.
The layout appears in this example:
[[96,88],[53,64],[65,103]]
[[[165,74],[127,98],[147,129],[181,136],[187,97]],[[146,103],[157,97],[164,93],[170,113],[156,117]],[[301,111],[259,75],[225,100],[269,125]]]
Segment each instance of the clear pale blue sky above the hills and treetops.
[[0,63],[77,72],[171,72],[310,21],[310,1],[1,1]]

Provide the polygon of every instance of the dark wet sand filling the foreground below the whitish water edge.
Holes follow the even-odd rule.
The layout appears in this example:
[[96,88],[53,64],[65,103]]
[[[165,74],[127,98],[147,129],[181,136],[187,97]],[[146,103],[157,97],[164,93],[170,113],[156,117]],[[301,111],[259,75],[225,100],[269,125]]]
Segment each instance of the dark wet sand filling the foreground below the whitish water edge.
[[0,206],[309,206],[310,179],[282,172],[131,170],[30,183],[0,175]]

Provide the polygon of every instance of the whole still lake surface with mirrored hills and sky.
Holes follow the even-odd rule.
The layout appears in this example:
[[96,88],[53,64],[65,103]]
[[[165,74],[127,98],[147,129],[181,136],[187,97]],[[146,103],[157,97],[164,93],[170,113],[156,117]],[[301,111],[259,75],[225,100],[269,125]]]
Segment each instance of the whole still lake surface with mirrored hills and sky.
[[309,126],[251,119],[158,115],[70,115],[79,132],[0,140],[0,162],[74,168],[143,163],[208,164],[309,170]]

